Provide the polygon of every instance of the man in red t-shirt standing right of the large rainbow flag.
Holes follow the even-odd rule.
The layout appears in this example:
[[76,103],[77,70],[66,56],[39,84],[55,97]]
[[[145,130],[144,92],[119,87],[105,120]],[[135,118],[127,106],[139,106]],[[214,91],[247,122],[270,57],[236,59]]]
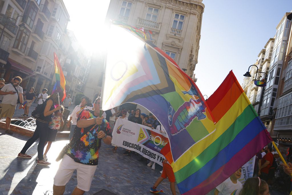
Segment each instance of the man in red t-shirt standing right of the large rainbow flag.
[[272,154],[272,146],[265,146],[266,155],[262,159],[262,165],[260,166],[260,178],[262,180],[268,181],[268,175],[270,167],[273,164],[274,156]]

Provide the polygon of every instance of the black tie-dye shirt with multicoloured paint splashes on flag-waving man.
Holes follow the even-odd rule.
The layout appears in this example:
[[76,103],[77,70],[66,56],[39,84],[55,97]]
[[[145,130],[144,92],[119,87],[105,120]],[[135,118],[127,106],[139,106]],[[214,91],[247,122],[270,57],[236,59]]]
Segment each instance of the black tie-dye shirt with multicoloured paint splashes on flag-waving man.
[[[96,118],[94,111],[89,109],[84,109],[78,115],[77,121],[80,119],[91,119]],[[79,128],[76,126],[73,134],[73,139],[75,140],[84,134],[79,141],[73,146],[72,149],[68,149],[67,155],[70,156],[75,162],[85,164],[85,165],[97,165],[98,164],[98,149],[101,146],[101,140],[97,138],[98,125],[96,125],[92,130],[91,128],[94,125],[89,127]],[[110,135],[109,123],[106,119],[102,120],[100,128],[105,134]]]

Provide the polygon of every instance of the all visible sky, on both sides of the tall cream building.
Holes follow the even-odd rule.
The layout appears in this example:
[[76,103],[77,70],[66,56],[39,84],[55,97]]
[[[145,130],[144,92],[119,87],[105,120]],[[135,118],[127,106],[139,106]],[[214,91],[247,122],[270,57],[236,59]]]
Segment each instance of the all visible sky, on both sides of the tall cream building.
[[[68,29],[73,30],[84,48],[93,51],[103,37],[103,23],[109,0],[64,0],[70,15]],[[248,66],[255,63],[276,26],[292,9],[292,0],[203,0],[197,85],[208,97],[218,88],[230,70],[239,83]],[[88,6],[91,5],[91,6]],[[76,11],[78,10],[78,11]]]

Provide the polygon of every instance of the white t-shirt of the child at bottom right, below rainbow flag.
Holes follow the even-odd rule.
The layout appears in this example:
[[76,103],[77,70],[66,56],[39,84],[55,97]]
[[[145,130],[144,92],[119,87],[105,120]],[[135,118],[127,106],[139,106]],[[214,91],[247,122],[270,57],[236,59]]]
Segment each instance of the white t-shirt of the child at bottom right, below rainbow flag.
[[238,195],[240,190],[242,188],[242,184],[237,180],[237,183],[234,184],[231,180],[230,177],[228,177],[227,180],[222,182],[220,185],[216,187],[218,189],[219,195],[230,195],[230,194],[235,194]]

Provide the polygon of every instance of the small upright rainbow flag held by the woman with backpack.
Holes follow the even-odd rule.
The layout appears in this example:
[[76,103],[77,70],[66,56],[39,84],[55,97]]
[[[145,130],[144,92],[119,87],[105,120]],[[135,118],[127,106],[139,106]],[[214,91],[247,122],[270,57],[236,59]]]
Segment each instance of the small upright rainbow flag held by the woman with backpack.
[[55,76],[56,76],[56,83],[55,86],[53,88],[52,94],[57,91],[59,93],[63,93],[63,98],[61,100],[61,102],[66,98],[66,90],[65,90],[65,86],[66,86],[66,81],[65,81],[65,77],[59,62],[59,59],[57,57],[57,55],[54,52],[54,64],[55,64]]

